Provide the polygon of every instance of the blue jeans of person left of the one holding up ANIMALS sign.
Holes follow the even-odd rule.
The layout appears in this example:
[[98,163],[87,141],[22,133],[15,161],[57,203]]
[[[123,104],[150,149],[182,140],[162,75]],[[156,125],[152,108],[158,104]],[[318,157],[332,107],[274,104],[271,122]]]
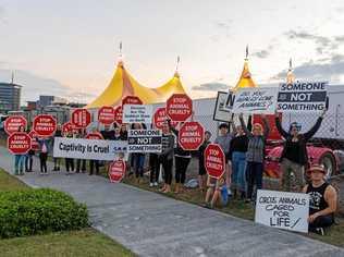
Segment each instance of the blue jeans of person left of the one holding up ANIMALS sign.
[[233,151],[232,154],[232,183],[235,188],[246,192],[246,154]]

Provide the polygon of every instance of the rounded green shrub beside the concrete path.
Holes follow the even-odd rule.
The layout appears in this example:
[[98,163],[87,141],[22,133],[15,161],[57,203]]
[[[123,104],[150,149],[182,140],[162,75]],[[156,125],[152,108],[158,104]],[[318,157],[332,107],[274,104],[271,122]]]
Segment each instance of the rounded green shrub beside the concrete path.
[[0,193],[0,237],[77,230],[88,227],[85,205],[53,189]]

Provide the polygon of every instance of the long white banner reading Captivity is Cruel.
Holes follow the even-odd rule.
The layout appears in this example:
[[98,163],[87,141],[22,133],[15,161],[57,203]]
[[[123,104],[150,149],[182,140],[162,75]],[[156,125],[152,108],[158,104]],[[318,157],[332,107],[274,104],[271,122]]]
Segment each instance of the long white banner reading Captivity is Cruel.
[[53,157],[108,161],[122,157],[126,160],[127,142],[56,137]]

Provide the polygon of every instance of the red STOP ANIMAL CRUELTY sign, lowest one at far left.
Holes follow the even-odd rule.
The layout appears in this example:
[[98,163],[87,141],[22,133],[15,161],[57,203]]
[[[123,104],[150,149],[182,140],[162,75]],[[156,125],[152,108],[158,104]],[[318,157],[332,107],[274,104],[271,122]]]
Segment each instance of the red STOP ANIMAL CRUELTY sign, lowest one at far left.
[[24,155],[32,148],[32,138],[25,132],[14,132],[8,138],[8,148],[13,155]]

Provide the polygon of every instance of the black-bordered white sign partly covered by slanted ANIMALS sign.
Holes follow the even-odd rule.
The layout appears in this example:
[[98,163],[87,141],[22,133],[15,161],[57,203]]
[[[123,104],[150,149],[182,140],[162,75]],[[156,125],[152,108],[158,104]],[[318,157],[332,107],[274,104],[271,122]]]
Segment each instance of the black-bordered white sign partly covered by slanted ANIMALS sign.
[[[231,96],[232,93],[230,93]],[[226,91],[218,91],[217,103],[213,110],[212,119],[214,121],[222,121],[222,122],[231,122],[232,121],[232,110],[231,110],[231,102],[233,98],[229,97],[229,93]]]

